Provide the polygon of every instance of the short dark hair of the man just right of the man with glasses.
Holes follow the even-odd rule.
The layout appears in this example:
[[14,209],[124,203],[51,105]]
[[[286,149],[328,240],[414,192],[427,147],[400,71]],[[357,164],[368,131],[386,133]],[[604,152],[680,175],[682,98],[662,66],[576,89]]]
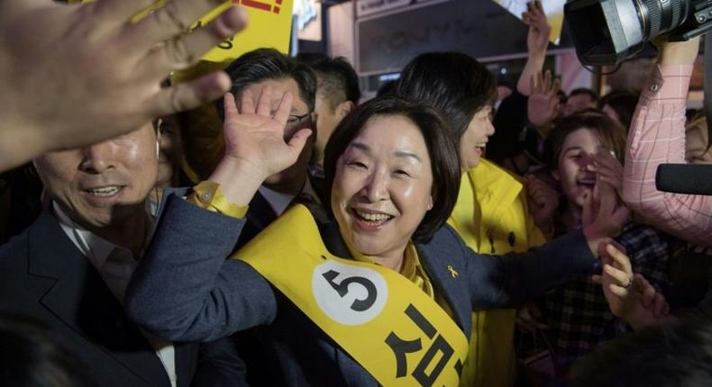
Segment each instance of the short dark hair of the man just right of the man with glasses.
[[297,55],[297,60],[315,71],[321,81],[316,93],[328,100],[332,109],[344,101],[359,104],[359,76],[346,58],[330,58],[321,53],[301,53]]

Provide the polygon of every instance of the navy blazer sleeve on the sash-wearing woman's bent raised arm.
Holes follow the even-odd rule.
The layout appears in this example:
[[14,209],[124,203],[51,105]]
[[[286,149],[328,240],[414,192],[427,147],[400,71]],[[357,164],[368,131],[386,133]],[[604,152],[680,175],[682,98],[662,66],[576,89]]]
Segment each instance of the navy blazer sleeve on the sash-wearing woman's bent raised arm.
[[132,320],[156,336],[208,341],[267,324],[277,314],[269,283],[230,257],[242,220],[167,196],[151,245],[126,293]]

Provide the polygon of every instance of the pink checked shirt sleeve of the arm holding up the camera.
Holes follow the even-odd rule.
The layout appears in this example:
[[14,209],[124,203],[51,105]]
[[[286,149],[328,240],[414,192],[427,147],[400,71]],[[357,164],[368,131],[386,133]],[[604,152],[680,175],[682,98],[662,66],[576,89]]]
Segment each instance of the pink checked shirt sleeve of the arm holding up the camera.
[[641,220],[701,246],[712,246],[712,196],[662,193],[655,172],[685,162],[685,102],[692,66],[657,67],[635,111],[625,153],[623,200]]

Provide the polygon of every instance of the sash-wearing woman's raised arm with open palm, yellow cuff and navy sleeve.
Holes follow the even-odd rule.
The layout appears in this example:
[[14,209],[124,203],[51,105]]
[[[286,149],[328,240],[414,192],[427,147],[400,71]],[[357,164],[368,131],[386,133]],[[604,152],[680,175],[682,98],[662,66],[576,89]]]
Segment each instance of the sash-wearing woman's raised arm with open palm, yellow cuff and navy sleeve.
[[[267,176],[296,161],[309,135],[303,130],[285,142],[291,95],[283,96],[273,118],[270,100],[269,87],[256,104],[250,93],[243,93],[238,112],[226,94],[227,150],[212,182],[196,186],[198,194],[191,198],[198,205],[175,195],[166,199],[126,297],[132,319],[160,337],[212,340],[268,324],[277,314],[269,283],[242,261],[225,260],[242,229],[243,220],[235,216],[244,215],[244,206]],[[235,212],[241,208],[242,214]]]

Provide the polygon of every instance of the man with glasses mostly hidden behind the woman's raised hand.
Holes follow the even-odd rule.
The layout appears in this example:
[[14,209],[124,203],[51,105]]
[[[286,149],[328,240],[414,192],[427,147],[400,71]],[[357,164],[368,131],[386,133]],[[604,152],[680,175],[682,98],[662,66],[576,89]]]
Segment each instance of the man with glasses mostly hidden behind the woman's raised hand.
[[[294,96],[285,138],[290,138],[303,128],[315,130],[316,76],[305,64],[275,49],[256,49],[235,59],[225,71],[233,80],[230,91],[238,102],[249,97],[257,103],[260,90],[265,85],[271,88],[272,112],[277,110],[282,94],[290,92]],[[216,103],[216,107],[224,119],[223,101]],[[277,219],[295,198],[317,203],[323,201],[323,193],[315,190],[315,186],[320,184],[315,184],[308,174],[315,138],[313,134],[293,166],[269,176],[260,186],[250,202],[247,222],[237,242],[238,248]]]

